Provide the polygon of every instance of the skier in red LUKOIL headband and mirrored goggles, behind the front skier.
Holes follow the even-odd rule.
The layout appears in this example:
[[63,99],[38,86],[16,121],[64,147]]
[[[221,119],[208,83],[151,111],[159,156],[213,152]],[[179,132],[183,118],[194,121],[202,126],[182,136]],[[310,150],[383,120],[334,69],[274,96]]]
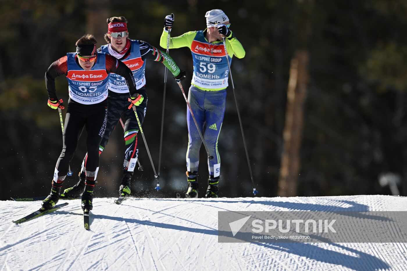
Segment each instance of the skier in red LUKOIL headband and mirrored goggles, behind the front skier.
[[[105,34],[106,45],[98,50],[108,53],[123,61],[133,72],[136,81],[137,92],[144,97],[142,103],[136,107],[140,124],[143,123],[147,109],[147,92],[145,88],[145,65],[147,59],[160,61],[173,74],[176,80],[185,78],[184,70],[180,70],[173,59],[165,52],[158,50],[147,42],[129,39],[127,20],[125,17],[111,17],[107,19],[108,32]],[[99,155],[105,149],[112,131],[115,129],[122,115],[124,115],[124,139],[125,157],[123,163],[123,177],[119,186],[119,195],[128,196],[131,193],[131,178],[138,158],[137,134],[139,131],[136,115],[133,110],[128,109],[130,103],[127,101],[129,92],[125,79],[120,74],[111,74],[109,78],[109,107],[107,111],[106,132],[99,146]],[[61,197],[77,198],[85,189],[85,177],[88,172],[88,154],[83,159],[79,181],[71,188],[64,190]]]

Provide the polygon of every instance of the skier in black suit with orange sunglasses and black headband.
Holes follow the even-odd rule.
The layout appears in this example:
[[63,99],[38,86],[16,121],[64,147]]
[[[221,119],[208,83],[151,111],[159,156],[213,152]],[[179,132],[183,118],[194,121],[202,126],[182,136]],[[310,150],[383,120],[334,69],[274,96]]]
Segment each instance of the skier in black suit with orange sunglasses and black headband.
[[96,43],[93,35],[84,35],[76,42],[77,52],[61,57],[45,73],[48,106],[52,109],[64,108],[62,99],[58,100],[55,92],[55,78],[62,74],[68,79],[69,101],[63,130],[63,148],[55,166],[50,195],[42,202],[43,210],[52,209],[59,200],[70,160],[84,127],[88,133],[88,155],[82,208],[93,209],[93,190],[99,168],[98,148],[106,129],[109,74],[124,77],[128,87],[125,95],[132,104],[140,105],[143,102],[143,96],[137,93],[132,71],[115,57],[97,52]]

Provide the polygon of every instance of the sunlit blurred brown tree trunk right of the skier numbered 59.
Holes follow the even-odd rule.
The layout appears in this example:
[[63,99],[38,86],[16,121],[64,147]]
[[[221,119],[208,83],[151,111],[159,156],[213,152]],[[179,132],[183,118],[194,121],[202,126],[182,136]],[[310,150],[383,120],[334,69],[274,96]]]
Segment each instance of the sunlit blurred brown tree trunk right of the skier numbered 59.
[[287,109],[283,132],[280,177],[280,197],[298,195],[300,173],[300,149],[304,122],[304,101],[308,84],[308,52],[297,50],[291,59],[290,77],[287,90]]

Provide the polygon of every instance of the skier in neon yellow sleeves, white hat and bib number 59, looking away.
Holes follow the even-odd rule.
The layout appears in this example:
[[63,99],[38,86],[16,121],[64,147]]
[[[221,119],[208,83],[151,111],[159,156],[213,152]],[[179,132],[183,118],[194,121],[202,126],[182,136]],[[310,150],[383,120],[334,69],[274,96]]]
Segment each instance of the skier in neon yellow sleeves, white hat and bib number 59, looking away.
[[[221,131],[223,116],[225,114],[226,87],[228,87],[228,63],[232,57],[245,56],[242,44],[230,30],[228,16],[220,9],[208,11],[205,15],[207,28],[204,31],[190,31],[178,37],[170,37],[169,48],[188,47],[191,50],[194,74],[188,92],[188,102],[197,120],[198,127],[203,132],[208,147],[208,189],[206,197],[218,197],[221,159],[218,152],[218,138]],[[166,48],[168,31],[174,22],[172,15],[164,19],[164,31],[161,35],[160,46]],[[226,57],[223,38],[228,51]],[[199,164],[199,149],[202,144],[201,137],[187,109],[188,122],[188,149],[186,152],[188,191],[187,197],[198,197],[197,172]]]

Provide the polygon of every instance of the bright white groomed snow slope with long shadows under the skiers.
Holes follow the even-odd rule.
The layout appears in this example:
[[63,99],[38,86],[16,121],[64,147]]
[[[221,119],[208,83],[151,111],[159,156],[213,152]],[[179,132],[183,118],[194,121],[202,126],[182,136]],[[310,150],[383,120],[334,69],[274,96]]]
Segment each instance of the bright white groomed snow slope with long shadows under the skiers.
[[[0,201],[0,270],[406,270],[406,243],[218,243],[218,211],[407,211],[407,198],[94,199],[33,221],[40,202]],[[59,201],[63,203],[65,201]]]

